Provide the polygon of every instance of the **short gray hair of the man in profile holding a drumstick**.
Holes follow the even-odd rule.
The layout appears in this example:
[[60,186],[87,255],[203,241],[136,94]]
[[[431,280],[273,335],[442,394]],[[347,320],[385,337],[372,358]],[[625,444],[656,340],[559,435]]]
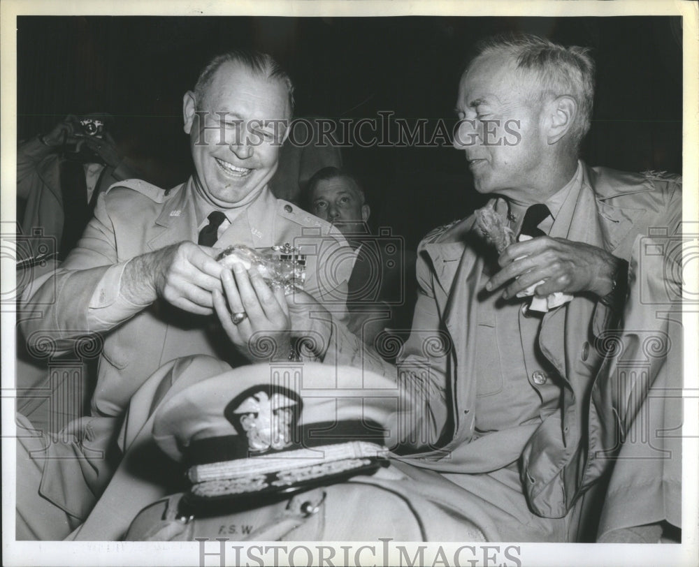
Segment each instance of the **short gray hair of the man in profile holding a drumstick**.
[[516,61],[517,69],[530,71],[541,94],[575,98],[578,112],[570,131],[576,149],[590,129],[595,91],[595,62],[589,47],[565,47],[531,34],[505,34],[487,38],[476,47],[472,62],[491,54]]

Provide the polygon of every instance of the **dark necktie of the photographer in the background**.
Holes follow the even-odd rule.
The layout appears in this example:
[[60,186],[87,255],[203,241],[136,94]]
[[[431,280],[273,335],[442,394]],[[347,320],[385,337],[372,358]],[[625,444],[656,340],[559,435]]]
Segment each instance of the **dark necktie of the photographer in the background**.
[[63,260],[75,248],[75,244],[78,244],[92,210],[87,204],[87,182],[82,162],[61,161],[59,175],[64,212],[59,258]]

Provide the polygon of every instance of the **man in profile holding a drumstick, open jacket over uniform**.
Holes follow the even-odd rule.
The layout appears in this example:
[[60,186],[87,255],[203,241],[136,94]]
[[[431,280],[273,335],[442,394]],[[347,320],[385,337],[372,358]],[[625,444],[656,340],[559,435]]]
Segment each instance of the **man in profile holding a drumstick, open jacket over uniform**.
[[[681,183],[579,160],[593,70],[586,50],[534,36],[480,46],[461,77],[454,145],[477,191],[493,196],[500,236],[518,241],[496,249],[471,215],[418,248],[420,293],[398,362],[429,392],[431,445],[412,463],[459,485],[489,540],[594,537],[586,491],[614,464],[635,415],[626,388],[646,394],[612,373],[618,353],[605,337],[637,351],[639,329],[666,337],[673,326],[653,306],[669,303],[662,296],[679,289],[681,270],[661,253],[649,265],[643,238],[676,234]],[[637,281],[651,281],[655,297],[633,293]],[[441,357],[426,330],[448,337]],[[682,360],[680,344],[654,357],[646,387]],[[654,487],[658,500],[668,486]]]

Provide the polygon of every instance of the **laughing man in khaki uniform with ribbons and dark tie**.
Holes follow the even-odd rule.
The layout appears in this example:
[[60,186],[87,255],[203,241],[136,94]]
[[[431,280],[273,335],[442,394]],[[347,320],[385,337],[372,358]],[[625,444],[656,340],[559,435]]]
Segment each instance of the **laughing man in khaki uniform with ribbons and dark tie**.
[[[48,337],[62,350],[71,348],[75,337],[96,334],[103,346],[93,417],[73,424],[66,432],[69,443],[47,448],[41,439],[22,439],[27,452],[70,460],[20,454],[19,466],[41,477],[41,489],[38,496],[29,487],[18,490],[23,520],[18,538],[58,538],[87,515],[110,478],[105,457],[113,455],[116,418],[162,364],[191,354],[215,355],[234,367],[259,361],[247,348],[255,332],[283,334],[291,324],[292,332],[308,334],[321,324],[310,321],[306,307],[282,305],[283,295],[273,295],[251,272],[249,279],[244,276],[248,288],[266,292],[251,309],[246,303],[246,309],[234,310],[237,334],[231,344],[213,315],[215,294],[221,298],[224,289],[222,274],[231,277],[214,259],[219,249],[297,247],[305,256],[304,290],[324,304],[336,324],[345,318],[349,270],[341,263],[334,272],[322,271],[345,241],[329,223],[277,200],[267,187],[292,106],[291,82],[268,55],[234,52],[212,60],[183,100],[194,175],[166,191],[136,179],[112,186],[64,263],[25,290],[23,330],[30,344]],[[317,358],[333,358],[328,346],[317,345]],[[277,355],[286,358],[288,351]],[[21,469],[19,476],[32,478]],[[44,532],[32,510],[48,501],[64,518]]]

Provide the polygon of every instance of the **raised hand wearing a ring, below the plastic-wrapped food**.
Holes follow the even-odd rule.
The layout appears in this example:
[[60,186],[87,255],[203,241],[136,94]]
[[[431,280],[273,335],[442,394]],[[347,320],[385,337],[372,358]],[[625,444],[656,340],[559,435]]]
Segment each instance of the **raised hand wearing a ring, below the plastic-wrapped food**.
[[[242,264],[233,265],[233,274],[224,269],[221,281],[226,297],[213,290],[213,304],[231,342],[253,362],[261,358],[286,360],[291,349],[291,321],[283,290],[273,292],[256,268],[248,272]],[[245,314],[245,318],[236,325],[234,314]]]

